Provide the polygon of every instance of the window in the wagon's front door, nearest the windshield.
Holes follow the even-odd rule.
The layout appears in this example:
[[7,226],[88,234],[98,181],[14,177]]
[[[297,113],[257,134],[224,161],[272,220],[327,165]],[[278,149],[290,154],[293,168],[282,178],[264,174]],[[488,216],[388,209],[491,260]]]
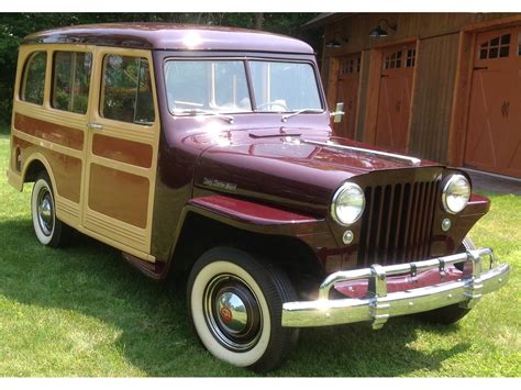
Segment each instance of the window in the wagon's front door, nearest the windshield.
[[155,120],[148,62],[107,55],[103,59],[101,116],[149,125]]

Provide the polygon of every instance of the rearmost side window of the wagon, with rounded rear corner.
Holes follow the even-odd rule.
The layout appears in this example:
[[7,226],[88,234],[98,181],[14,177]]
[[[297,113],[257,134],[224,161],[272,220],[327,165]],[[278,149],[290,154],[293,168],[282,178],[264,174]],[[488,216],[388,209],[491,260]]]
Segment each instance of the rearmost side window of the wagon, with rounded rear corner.
[[43,104],[47,53],[36,52],[26,59],[22,75],[20,99],[30,103]]

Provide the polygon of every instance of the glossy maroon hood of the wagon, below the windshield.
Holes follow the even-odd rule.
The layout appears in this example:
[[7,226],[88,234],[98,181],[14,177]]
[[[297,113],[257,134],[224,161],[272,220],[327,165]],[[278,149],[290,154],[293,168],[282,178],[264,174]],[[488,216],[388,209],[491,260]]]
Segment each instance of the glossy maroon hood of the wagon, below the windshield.
[[346,138],[293,133],[250,132],[239,142],[224,138],[210,145],[198,158],[195,186],[326,215],[334,191],[345,180],[437,165],[368,149]]

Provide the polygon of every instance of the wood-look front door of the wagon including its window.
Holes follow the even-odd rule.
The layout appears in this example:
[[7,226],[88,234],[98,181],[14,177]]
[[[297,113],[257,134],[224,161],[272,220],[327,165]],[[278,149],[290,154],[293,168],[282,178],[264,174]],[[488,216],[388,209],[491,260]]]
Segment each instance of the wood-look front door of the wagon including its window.
[[98,48],[87,134],[82,223],[91,235],[149,256],[159,115],[149,51]]

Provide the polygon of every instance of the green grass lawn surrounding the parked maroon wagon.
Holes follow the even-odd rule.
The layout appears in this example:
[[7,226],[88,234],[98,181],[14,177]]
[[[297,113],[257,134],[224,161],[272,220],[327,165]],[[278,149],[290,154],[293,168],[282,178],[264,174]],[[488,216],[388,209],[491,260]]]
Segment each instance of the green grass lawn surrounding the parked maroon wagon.
[[[41,246],[31,186],[7,183],[9,137],[0,134],[0,376],[254,376],[214,359],[188,326],[185,298],[134,271],[118,250],[77,235]],[[457,325],[391,319],[303,330],[290,360],[270,376],[521,376],[521,197],[491,196],[472,231],[513,266],[510,283]]]

